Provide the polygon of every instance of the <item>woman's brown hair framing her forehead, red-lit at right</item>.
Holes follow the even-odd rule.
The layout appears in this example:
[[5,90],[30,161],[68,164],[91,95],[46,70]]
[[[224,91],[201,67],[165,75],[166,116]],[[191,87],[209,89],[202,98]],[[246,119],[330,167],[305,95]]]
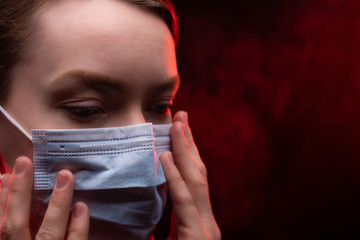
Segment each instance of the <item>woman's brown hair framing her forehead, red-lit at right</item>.
[[[0,104],[10,92],[9,72],[21,58],[31,34],[33,14],[52,0],[0,1]],[[121,0],[119,0],[121,1]],[[160,16],[170,29],[175,44],[179,39],[179,24],[170,0],[122,0]]]

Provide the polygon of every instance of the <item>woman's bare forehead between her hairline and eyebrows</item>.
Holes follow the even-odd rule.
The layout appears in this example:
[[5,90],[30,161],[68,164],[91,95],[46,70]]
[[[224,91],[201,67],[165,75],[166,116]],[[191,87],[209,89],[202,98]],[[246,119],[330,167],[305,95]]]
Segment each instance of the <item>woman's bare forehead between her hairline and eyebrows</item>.
[[107,69],[115,64],[122,75],[133,74],[126,73],[133,68],[176,75],[170,30],[160,17],[137,6],[121,0],[60,0],[49,2],[36,17],[39,28],[29,52],[40,59],[51,51],[53,61],[43,64],[58,66],[48,67],[76,63],[117,74]]

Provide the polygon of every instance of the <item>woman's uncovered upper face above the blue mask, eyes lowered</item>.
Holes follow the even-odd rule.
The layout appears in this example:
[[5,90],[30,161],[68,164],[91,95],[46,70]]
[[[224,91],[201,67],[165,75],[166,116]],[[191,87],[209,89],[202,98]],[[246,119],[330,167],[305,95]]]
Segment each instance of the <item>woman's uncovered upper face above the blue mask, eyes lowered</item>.
[[179,78],[161,18],[120,0],[62,0],[36,19],[4,106],[27,131],[171,122]]

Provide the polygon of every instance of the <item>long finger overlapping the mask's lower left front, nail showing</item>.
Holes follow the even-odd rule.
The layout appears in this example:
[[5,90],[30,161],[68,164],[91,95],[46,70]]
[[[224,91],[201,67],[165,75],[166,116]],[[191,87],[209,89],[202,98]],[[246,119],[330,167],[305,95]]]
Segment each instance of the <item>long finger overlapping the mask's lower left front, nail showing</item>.
[[74,176],[61,170],[36,239],[64,239],[74,190]]

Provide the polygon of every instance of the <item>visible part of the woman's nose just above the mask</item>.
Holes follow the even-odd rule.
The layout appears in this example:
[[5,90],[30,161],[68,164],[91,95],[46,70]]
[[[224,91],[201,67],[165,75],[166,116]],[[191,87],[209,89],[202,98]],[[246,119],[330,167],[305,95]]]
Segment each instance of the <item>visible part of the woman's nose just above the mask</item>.
[[145,122],[144,114],[140,106],[129,106],[114,116],[114,126],[117,127],[142,124]]

